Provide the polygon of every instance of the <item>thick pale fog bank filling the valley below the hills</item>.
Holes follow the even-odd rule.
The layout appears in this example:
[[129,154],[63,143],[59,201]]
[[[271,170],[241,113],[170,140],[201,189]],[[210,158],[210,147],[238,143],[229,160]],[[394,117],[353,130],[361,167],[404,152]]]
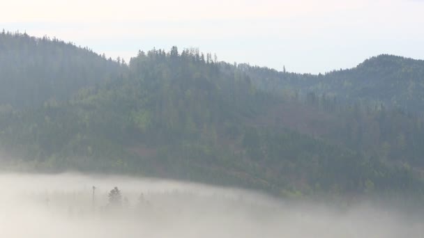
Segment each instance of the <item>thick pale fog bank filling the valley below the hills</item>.
[[[393,206],[295,203],[169,180],[9,173],[0,175],[0,187],[0,237],[420,237],[424,232],[420,216]],[[108,205],[114,187],[121,190],[119,207]]]

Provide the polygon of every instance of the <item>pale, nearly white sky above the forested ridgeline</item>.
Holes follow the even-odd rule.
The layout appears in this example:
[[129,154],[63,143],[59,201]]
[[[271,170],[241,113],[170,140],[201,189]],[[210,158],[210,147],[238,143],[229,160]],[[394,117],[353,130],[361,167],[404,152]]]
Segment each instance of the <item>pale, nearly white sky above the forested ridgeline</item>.
[[173,45],[302,73],[353,68],[379,54],[424,59],[424,0],[0,1],[0,29],[127,61],[139,49]]

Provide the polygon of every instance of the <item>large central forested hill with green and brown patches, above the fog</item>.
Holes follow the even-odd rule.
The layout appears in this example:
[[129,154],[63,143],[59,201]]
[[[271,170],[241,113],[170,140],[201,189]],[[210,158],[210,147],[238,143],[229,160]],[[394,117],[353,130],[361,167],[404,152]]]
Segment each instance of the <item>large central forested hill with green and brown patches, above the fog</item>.
[[[135,173],[263,189],[282,196],[421,193],[407,166],[363,150],[258,124],[284,101],[197,51],[142,51],[121,79],[72,100],[0,116],[13,168]],[[291,103],[291,102],[284,102]],[[290,111],[285,111],[290,113]]]

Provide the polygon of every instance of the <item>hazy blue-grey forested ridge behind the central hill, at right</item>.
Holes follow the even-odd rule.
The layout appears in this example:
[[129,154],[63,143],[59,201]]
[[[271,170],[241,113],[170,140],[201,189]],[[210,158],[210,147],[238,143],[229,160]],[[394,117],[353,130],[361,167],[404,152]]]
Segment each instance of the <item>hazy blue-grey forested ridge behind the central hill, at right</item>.
[[424,110],[424,61],[400,56],[369,58],[356,68],[326,74],[278,72],[246,64],[236,68],[252,77],[255,86],[291,97],[335,96],[340,102],[383,104],[392,109],[421,113]]

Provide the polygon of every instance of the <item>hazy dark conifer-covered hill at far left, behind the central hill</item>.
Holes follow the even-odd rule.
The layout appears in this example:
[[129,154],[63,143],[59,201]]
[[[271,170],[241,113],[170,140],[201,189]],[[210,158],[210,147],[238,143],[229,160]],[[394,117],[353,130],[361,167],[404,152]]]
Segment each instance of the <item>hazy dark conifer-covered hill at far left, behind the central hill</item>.
[[41,106],[69,100],[79,88],[116,79],[121,66],[56,38],[0,33],[0,104]]

